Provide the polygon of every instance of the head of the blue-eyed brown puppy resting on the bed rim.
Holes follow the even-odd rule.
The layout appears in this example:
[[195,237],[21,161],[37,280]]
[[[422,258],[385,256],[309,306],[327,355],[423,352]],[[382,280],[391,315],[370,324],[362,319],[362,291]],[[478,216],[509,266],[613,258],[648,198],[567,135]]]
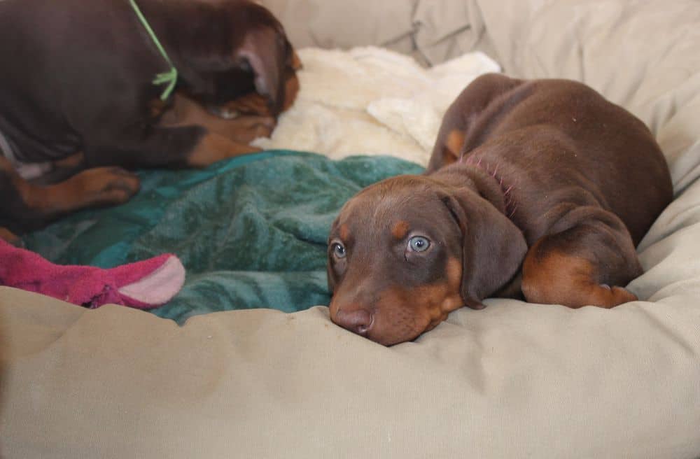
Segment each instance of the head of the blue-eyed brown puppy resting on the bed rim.
[[410,341],[502,288],[526,247],[477,192],[426,176],[361,191],[328,239],[330,318],[385,346]]

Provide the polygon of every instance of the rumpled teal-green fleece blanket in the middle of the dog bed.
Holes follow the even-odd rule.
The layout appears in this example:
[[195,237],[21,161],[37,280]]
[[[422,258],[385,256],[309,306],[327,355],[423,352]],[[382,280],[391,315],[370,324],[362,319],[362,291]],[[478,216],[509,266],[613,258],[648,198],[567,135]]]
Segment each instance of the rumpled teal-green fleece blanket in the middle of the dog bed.
[[328,229],[358,190],[418,174],[392,157],[271,151],[204,170],[140,171],[141,192],[123,206],[83,211],[29,234],[52,262],[113,267],[175,253],[185,285],[153,312],[182,323],[229,309],[300,311],[328,304]]

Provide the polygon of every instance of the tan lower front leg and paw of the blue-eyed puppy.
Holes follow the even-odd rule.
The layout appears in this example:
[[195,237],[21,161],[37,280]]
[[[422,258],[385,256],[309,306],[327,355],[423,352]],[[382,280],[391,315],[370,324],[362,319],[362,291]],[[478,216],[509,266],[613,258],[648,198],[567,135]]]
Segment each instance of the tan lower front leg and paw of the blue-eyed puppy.
[[612,308],[637,299],[625,288],[599,284],[589,260],[554,250],[538,253],[540,242],[528,251],[523,263],[521,289],[528,302]]

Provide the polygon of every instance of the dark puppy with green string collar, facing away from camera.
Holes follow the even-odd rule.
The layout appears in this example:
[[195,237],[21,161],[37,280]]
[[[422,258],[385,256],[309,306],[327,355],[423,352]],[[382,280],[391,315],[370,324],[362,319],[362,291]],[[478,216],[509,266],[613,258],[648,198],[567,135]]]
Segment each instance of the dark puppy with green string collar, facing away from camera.
[[[122,167],[205,167],[257,151],[248,143],[292,104],[300,62],[267,9],[248,0],[136,5],[0,1],[3,239],[125,202],[139,179]],[[154,84],[170,62],[177,95]],[[27,164],[61,183],[27,181],[18,172]]]

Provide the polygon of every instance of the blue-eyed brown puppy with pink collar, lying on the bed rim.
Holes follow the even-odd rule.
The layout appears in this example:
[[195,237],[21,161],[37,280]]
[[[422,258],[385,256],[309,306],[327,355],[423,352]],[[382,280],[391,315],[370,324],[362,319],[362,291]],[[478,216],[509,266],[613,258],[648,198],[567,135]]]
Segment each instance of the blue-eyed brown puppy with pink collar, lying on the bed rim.
[[426,174],[343,207],[330,318],[391,345],[486,297],[633,301],[635,247],[671,199],[664,156],[631,113],[573,81],[482,76],[444,115]]

